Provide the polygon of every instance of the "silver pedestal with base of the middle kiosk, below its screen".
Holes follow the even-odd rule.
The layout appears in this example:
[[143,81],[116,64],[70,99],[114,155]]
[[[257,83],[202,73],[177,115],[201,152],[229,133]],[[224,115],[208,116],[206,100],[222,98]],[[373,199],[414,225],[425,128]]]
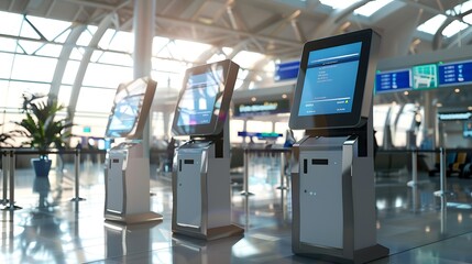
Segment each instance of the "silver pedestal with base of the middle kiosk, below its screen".
[[227,120],[223,133],[191,136],[177,148],[173,167],[174,232],[206,240],[244,232],[231,224],[228,129]]

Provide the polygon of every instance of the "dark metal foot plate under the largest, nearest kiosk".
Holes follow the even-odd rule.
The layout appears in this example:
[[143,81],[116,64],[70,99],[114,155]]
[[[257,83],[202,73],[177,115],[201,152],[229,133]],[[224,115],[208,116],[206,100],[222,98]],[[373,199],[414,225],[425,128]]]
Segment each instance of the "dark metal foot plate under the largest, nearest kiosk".
[[336,263],[366,263],[382,257],[386,257],[389,253],[388,248],[385,248],[380,244],[365,249],[360,249],[353,252],[309,245],[300,246],[305,249],[294,249],[295,254]]

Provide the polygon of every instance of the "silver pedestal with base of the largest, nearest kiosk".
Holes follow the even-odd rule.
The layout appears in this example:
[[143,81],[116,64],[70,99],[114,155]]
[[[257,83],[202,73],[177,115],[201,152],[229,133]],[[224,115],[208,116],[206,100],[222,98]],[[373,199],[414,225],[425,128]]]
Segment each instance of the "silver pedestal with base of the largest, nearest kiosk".
[[372,121],[330,134],[308,135],[293,147],[293,251],[348,263],[386,256],[376,242],[373,150],[366,150]]

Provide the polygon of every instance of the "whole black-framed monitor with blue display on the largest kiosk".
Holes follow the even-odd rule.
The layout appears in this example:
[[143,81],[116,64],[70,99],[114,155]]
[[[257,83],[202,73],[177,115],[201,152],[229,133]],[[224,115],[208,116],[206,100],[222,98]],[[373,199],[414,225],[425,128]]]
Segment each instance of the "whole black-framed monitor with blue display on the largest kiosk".
[[289,128],[360,128],[372,110],[380,36],[362,30],[305,43]]

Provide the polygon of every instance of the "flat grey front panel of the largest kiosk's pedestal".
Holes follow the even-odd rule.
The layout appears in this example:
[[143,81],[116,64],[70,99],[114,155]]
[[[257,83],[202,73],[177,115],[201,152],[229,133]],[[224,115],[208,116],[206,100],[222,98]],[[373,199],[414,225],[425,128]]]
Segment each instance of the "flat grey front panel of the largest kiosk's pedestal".
[[300,242],[341,249],[342,153],[300,153]]

